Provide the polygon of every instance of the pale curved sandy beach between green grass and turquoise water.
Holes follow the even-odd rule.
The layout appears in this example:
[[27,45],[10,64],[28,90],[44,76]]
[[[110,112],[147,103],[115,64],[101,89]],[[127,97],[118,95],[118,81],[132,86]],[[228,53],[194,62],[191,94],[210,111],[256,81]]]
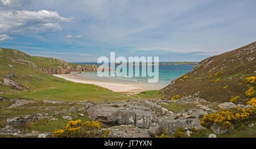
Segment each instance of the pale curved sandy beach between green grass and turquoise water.
[[96,86],[108,88],[114,92],[127,92],[127,93],[137,93],[142,91],[150,91],[150,90],[159,90],[164,85],[155,84],[155,83],[133,83],[133,82],[110,82],[104,80],[92,80],[82,78],[80,76],[76,76],[73,74],[63,74],[63,75],[53,75],[59,78],[63,78],[76,83],[84,83],[84,84],[94,84]]

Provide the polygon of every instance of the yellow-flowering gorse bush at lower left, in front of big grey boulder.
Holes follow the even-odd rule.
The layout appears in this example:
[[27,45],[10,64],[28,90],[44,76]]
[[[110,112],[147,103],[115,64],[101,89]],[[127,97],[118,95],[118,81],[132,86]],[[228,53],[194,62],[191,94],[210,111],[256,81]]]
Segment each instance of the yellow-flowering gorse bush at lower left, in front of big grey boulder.
[[101,123],[98,121],[81,120],[69,121],[65,129],[53,131],[54,138],[88,138],[88,137],[108,137],[108,130],[101,130]]

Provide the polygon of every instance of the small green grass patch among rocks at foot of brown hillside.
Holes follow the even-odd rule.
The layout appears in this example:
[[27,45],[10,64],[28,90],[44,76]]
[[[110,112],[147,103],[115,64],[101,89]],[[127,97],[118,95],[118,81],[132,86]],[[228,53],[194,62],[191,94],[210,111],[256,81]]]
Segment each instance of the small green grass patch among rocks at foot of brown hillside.
[[189,103],[189,104],[175,104],[170,103],[169,105],[166,104],[160,104],[162,107],[171,110],[172,112],[181,112],[184,109],[200,109],[200,107],[197,107],[196,104]]

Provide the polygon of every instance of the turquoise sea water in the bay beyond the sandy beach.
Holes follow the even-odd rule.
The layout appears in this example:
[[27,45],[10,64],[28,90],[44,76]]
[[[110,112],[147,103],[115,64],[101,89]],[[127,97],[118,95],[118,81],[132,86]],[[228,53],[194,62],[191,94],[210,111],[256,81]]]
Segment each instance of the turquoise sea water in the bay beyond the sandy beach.
[[[89,64],[89,63],[80,63],[80,64]],[[115,65],[117,67],[118,65]],[[159,80],[158,84],[170,84],[171,80],[178,78],[180,75],[188,73],[193,70],[194,65],[161,65],[159,63]],[[127,67],[127,76],[117,77],[117,76],[98,76],[97,72],[82,72],[78,74],[84,78],[94,79],[94,80],[109,80],[114,82],[147,82],[149,76],[142,76],[141,74],[142,67],[140,66],[140,74],[139,76],[128,76],[129,67]],[[152,68],[154,70],[154,67]],[[152,78],[152,77],[151,77]]]

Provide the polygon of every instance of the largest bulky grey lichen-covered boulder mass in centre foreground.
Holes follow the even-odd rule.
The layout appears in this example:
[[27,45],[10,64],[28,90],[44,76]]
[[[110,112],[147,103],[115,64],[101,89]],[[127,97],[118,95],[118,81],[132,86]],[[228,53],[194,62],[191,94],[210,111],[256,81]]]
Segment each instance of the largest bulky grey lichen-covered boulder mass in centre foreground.
[[128,100],[118,104],[98,104],[87,109],[87,112],[91,120],[102,122],[103,127],[134,125],[148,128],[154,122],[158,123],[155,109],[162,110],[162,107],[150,101]]

